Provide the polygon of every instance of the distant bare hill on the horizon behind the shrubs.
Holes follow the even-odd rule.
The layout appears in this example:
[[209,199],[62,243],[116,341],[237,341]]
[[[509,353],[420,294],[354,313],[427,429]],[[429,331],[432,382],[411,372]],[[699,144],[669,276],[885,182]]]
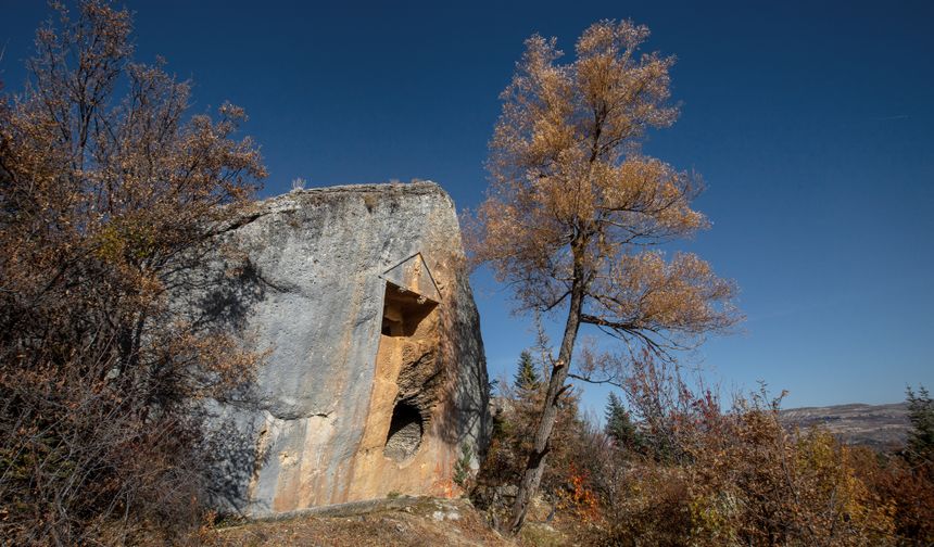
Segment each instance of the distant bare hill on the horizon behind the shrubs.
[[782,410],[780,418],[802,429],[823,424],[846,444],[876,449],[900,447],[910,428],[906,403],[790,408]]

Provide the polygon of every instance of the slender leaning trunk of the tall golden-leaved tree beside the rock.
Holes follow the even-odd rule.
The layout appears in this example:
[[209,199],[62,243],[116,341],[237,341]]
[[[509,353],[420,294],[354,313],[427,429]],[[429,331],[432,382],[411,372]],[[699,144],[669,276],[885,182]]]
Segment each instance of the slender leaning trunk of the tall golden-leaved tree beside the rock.
[[[577,255],[577,253],[575,254]],[[529,454],[526,471],[522,474],[522,482],[519,484],[519,489],[516,493],[516,503],[513,505],[513,518],[508,530],[513,535],[518,534],[519,530],[521,530],[522,523],[526,520],[526,512],[529,510],[529,501],[531,501],[532,496],[539,491],[539,484],[542,482],[542,473],[545,470],[545,456],[548,453],[548,438],[552,436],[555,419],[558,416],[558,398],[564,391],[565,381],[568,379],[571,355],[573,354],[575,341],[577,340],[578,328],[580,327],[583,297],[583,267],[580,260],[576,259],[573,283],[571,285],[571,302],[568,308],[568,320],[565,325],[561,347],[558,352],[558,360],[555,361],[552,368],[548,391],[545,394],[539,428],[535,431],[535,443],[532,446],[531,454]]]

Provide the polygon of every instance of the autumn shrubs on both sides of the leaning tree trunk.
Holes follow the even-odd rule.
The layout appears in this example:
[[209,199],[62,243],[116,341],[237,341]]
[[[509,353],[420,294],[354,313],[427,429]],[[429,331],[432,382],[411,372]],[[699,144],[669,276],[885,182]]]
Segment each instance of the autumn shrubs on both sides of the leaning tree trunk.
[[[530,371],[531,370],[531,374]],[[496,430],[476,479],[492,525],[508,517],[542,382],[520,359],[501,385]],[[908,442],[881,451],[815,423],[788,425],[781,397],[729,403],[693,390],[677,367],[636,362],[603,428],[572,391],[558,417],[541,499],[579,524],[580,545],[930,545],[934,542],[934,416],[909,391]],[[813,416],[813,415],[810,415]],[[561,520],[557,519],[557,520]]]

